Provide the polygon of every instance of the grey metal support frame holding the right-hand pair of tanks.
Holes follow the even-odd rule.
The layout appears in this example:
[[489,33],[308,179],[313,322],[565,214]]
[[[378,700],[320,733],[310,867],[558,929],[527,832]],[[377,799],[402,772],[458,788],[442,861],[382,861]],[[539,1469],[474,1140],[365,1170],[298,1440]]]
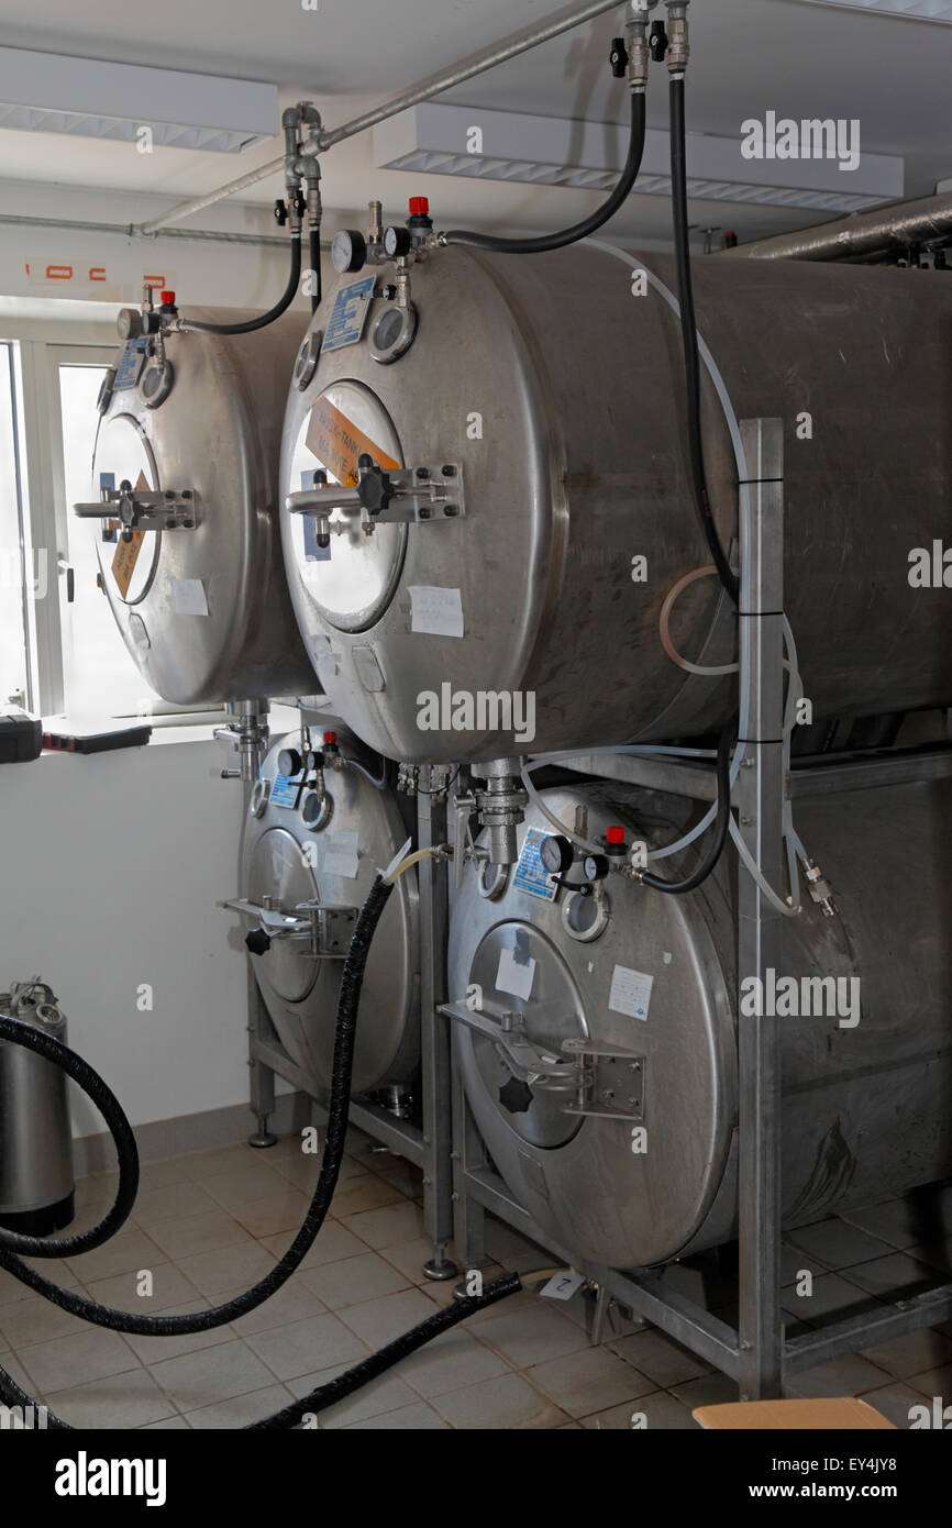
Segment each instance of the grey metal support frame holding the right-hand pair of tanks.
[[[747,469],[741,494],[750,533],[741,544],[741,662],[749,666],[750,707],[747,767],[741,766],[733,805],[750,853],[772,885],[782,885],[784,795],[863,788],[900,779],[934,779],[952,773],[952,749],[924,749],[899,758],[848,759],[802,769],[784,778],[782,761],[782,422],[744,420],[741,443]],[[565,762],[565,761],[562,761]],[[703,766],[608,755],[578,755],[568,767],[602,778],[622,778],[694,799],[714,799]],[[440,868],[440,876],[445,871]],[[738,972],[763,975],[779,964],[779,914],[750,876],[740,876]],[[740,1161],[740,1317],[738,1329],[665,1282],[665,1271],[625,1271],[579,1259],[558,1245],[512,1198],[487,1158],[469,1109],[455,1057],[457,1027],[445,1015],[454,1048],[452,1065],[452,1201],[454,1241],[466,1268],[486,1259],[484,1218],[498,1219],[536,1242],[594,1284],[627,1311],[659,1326],[737,1380],[746,1400],[782,1394],[784,1380],[814,1365],[857,1352],[876,1342],[932,1326],[952,1316],[952,1284],[914,1299],[897,1299],[879,1311],[851,1316],[802,1337],[785,1340],[781,1293],[781,1157],[779,1028],[773,1018],[738,1021],[738,1161]],[[862,1291],[857,1290],[857,1303]],[[597,1337],[596,1337],[597,1340]]]

